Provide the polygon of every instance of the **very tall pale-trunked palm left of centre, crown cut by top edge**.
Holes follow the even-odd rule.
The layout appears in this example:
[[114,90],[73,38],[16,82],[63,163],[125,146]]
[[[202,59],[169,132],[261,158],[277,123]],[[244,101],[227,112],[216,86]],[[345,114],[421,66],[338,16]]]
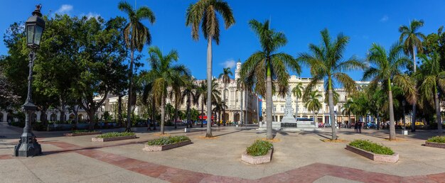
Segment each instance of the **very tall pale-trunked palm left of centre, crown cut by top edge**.
[[[223,17],[225,28],[230,28],[235,24],[232,9],[229,4],[223,0],[199,0],[195,4],[190,4],[186,12],[186,26],[192,28],[193,40],[199,39],[199,25],[203,30],[204,38],[207,39],[207,111],[210,119],[211,104],[211,86],[212,86],[212,40],[216,45],[220,44],[220,23],[217,13]],[[211,124],[207,123],[206,137],[212,137]]]

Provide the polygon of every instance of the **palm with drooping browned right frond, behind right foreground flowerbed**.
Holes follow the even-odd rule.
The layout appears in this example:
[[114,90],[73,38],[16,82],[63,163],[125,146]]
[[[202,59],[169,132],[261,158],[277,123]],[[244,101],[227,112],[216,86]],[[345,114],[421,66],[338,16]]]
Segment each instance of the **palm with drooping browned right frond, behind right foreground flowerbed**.
[[[368,62],[375,66],[370,66],[363,74],[363,80],[372,79],[370,87],[375,87],[379,84],[384,84],[388,92],[389,114],[390,114],[390,140],[395,140],[395,122],[394,122],[394,104],[392,97],[392,85],[395,84],[401,87],[407,95],[407,101],[414,102],[414,82],[412,82],[407,75],[400,73],[400,67],[407,65],[410,61],[408,57],[401,54],[402,45],[395,43],[387,52],[385,48],[380,45],[372,44],[369,50]],[[394,83],[393,83],[394,82]]]

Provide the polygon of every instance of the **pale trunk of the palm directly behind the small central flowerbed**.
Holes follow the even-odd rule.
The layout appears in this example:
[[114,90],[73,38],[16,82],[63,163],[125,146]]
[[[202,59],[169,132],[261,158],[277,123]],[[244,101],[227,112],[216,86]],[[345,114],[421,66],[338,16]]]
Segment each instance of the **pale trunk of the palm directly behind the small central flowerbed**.
[[266,135],[267,139],[273,139],[272,135],[272,72],[270,63],[267,63],[267,79],[266,79]]

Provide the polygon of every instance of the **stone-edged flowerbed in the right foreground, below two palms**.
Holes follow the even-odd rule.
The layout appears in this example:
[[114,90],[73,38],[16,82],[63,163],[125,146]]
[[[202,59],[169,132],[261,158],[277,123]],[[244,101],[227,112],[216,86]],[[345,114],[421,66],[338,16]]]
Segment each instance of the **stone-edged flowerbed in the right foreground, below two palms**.
[[399,154],[394,153],[391,148],[372,143],[369,140],[354,140],[346,145],[346,150],[377,162],[397,162],[399,160]]

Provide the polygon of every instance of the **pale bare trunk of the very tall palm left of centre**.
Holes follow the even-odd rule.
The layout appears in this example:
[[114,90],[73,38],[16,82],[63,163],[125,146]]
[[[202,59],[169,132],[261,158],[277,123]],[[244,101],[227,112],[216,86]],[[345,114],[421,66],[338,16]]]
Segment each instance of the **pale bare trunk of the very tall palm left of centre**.
[[213,137],[212,123],[210,120],[212,116],[212,38],[207,38],[207,133],[205,137]]

